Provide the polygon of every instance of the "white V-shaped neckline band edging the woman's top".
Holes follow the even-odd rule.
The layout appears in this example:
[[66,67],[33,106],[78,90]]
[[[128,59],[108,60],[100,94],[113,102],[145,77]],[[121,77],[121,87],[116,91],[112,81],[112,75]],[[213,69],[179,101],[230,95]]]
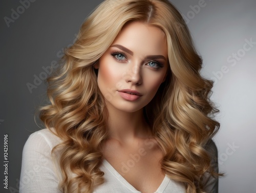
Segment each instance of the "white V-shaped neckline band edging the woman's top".
[[[125,187],[129,188],[135,193],[141,193],[141,191],[137,190],[132,184],[130,184],[127,180],[125,180],[122,175],[118,173],[118,171],[106,160],[103,159],[102,164],[113,174],[116,179],[122,183]],[[161,182],[160,186],[154,193],[163,193],[164,189],[167,187],[170,179],[165,175],[163,181]]]

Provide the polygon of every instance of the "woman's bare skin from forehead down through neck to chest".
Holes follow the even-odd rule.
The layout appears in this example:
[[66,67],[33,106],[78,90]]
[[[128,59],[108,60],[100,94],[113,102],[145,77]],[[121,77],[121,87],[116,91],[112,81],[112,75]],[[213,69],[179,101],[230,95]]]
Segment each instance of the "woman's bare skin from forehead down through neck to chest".
[[[102,149],[104,158],[137,190],[153,193],[165,176],[160,163],[163,153],[148,132],[143,107],[165,80],[165,34],[144,23],[127,24],[95,68],[109,113],[110,137]],[[126,91],[137,93],[131,95]],[[137,159],[132,164],[134,155]]]

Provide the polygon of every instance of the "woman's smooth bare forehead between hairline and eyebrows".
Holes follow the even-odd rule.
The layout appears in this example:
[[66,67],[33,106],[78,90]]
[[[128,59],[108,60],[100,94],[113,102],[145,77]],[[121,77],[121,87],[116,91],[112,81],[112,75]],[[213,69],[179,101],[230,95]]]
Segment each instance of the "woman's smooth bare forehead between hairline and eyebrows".
[[167,43],[164,32],[155,26],[141,22],[125,25],[112,45],[122,45],[135,54],[162,54],[167,56]]

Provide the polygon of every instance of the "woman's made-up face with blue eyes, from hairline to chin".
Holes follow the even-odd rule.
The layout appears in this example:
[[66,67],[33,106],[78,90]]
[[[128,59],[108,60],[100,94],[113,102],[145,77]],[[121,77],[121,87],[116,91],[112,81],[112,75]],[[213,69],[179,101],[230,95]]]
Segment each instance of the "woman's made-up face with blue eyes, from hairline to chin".
[[157,27],[130,23],[95,68],[98,68],[98,86],[108,109],[141,110],[165,80],[168,69],[165,34]]

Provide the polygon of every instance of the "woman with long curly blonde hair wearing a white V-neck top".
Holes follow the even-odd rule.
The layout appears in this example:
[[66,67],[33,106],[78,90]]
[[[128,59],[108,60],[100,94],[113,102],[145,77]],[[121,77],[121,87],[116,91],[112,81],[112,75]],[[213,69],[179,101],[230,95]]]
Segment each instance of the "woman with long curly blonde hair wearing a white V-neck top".
[[201,65],[168,1],[104,1],[48,79],[47,129],[25,144],[20,191],[216,191]]

